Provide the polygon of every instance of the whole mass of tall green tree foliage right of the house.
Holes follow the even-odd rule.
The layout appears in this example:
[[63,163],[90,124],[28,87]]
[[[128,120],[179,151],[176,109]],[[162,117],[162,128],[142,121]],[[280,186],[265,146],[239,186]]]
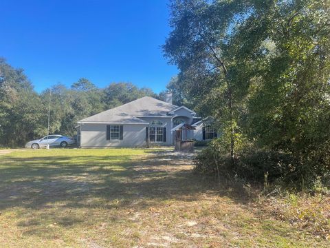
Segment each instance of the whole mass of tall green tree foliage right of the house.
[[239,176],[261,180],[269,171],[300,188],[327,181],[329,24],[326,0],[172,1],[164,52],[180,70],[181,91],[231,136],[221,141],[226,149],[203,152],[205,166],[215,173],[220,153]]

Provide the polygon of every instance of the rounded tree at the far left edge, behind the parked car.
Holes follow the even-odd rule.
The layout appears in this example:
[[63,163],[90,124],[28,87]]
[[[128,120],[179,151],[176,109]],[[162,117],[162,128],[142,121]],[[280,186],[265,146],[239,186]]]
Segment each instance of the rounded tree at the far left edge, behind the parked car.
[[0,144],[17,146],[45,134],[43,105],[23,70],[0,59]]

